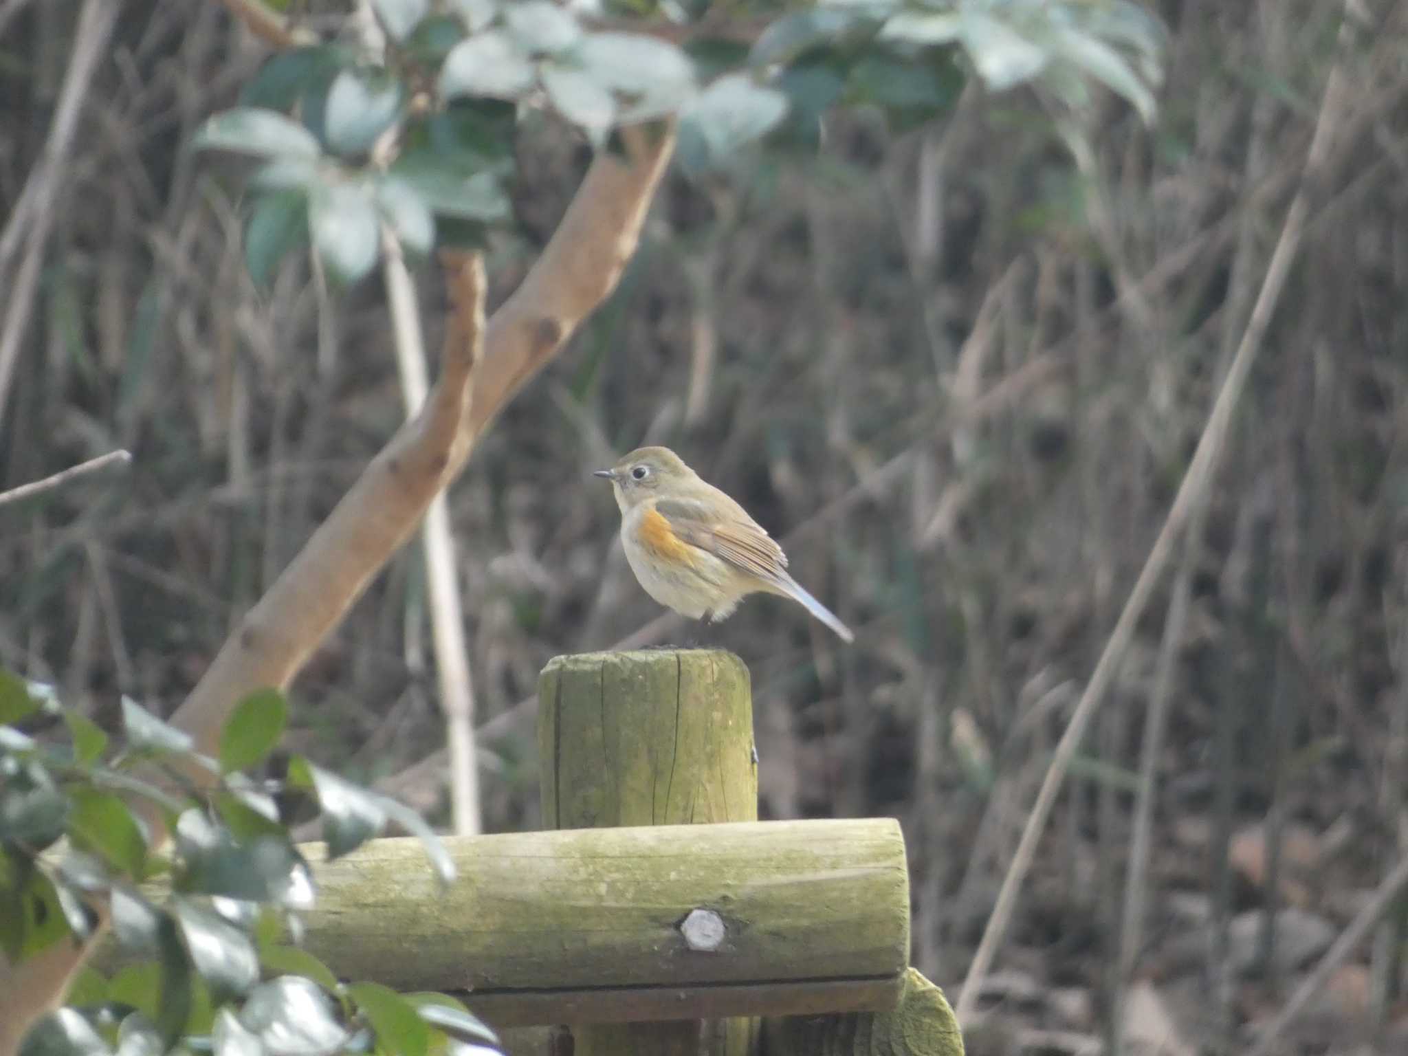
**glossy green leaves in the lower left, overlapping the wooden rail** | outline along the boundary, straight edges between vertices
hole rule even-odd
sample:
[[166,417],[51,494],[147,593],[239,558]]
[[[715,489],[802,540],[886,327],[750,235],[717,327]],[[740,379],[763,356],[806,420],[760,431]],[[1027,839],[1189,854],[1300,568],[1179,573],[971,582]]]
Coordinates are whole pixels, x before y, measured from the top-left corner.
[[[31,1031],[25,1056],[497,1052],[493,1032],[458,1001],[344,984],[289,945],[314,900],[279,805],[300,791],[317,803],[332,855],[394,818],[422,838],[442,881],[455,867],[414,811],[301,756],[286,783],[246,776],[277,743],[286,714],[275,690],[251,694],[221,731],[215,760],[124,698],[114,750],[49,687],[0,670],[0,949],[17,963],[87,938],[103,910],[125,955],[111,977],[84,969],[68,1007]],[[173,835],[169,852],[153,850],[153,825]],[[169,887],[162,898],[142,886],[158,876]]]

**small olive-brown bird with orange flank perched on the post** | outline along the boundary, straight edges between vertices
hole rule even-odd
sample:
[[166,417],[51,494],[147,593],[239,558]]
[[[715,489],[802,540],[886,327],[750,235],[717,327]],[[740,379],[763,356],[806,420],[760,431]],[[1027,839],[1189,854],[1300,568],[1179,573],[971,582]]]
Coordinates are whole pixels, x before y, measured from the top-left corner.
[[801,603],[842,641],[855,639],[787,574],[787,555],[758,521],[669,448],[639,448],[596,476],[615,491],[631,570],[666,608],[718,622],[762,590]]

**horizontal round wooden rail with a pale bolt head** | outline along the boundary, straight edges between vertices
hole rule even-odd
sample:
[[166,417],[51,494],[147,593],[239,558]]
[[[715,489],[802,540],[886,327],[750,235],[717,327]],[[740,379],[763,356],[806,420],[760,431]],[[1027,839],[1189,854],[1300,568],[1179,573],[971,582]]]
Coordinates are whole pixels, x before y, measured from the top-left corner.
[[886,1011],[910,888],[890,818],[414,839],[314,862],[304,946],[345,979],[463,993],[496,1025]]

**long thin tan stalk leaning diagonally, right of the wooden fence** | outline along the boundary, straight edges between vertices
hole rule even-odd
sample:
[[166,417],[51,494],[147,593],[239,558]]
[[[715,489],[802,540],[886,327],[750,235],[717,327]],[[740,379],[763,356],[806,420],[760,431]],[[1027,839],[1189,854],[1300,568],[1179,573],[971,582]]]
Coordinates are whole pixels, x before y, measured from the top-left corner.
[[1173,558],[1176,542],[1181,536],[1190,514],[1212,483],[1214,472],[1226,446],[1232,413],[1236,410],[1242,390],[1246,387],[1247,375],[1262,348],[1262,338],[1266,335],[1266,328],[1271,321],[1271,314],[1286,286],[1286,277],[1300,249],[1305,218],[1311,208],[1311,199],[1318,196],[1319,191],[1319,179],[1329,155],[1332,130],[1339,120],[1340,99],[1345,94],[1340,63],[1347,51],[1352,21],[1347,7],[1352,3],[1353,0],[1346,0],[1346,15],[1340,23],[1339,54],[1335,66],[1331,69],[1329,80],[1325,84],[1325,96],[1321,103],[1319,117],[1315,121],[1315,132],[1311,137],[1300,186],[1297,187],[1291,207],[1287,210],[1281,235],[1276,242],[1276,249],[1266,269],[1266,277],[1262,282],[1256,304],[1252,308],[1252,317],[1247,321],[1246,331],[1242,334],[1236,356],[1228,367],[1226,380],[1224,380],[1222,389],[1212,404],[1212,411],[1202,429],[1202,436],[1198,439],[1188,472],[1178,484],[1173,507],[1169,510],[1163,528],[1159,529],[1159,536],[1155,539],[1149,558],[1139,572],[1139,579],[1129,593],[1129,600],[1125,603],[1119,620],[1115,622],[1115,629],[1111,632],[1110,641],[1105,642],[1100,660],[1095,663],[1095,670],[1090,676],[1090,683],[1086,686],[1086,691],[1081,694],[1080,703],[1070,717],[1070,725],[1066,727],[1066,732],[1062,734],[1056,745],[1050,767],[1046,770],[1046,777],[1042,780],[1042,787],[1036,794],[1036,803],[1032,804],[1032,812],[1026,819],[1022,838],[1012,856],[1012,865],[1008,867],[1007,876],[1002,877],[1002,887],[998,891],[997,904],[993,907],[993,915],[988,918],[987,928],[983,931],[983,939],[973,955],[973,964],[963,980],[963,990],[959,994],[955,1010],[959,1022],[964,1022],[973,1014],[979,988],[987,976],[993,957],[997,955],[997,948],[1002,936],[1007,934],[1007,925],[1017,907],[1018,891],[1036,855],[1036,842],[1046,828],[1046,818],[1056,803],[1056,796],[1060,791],[1062,781],[1076,755],[1076,749],[1084,738],[1086,727],[1090,725],[1090,719],[1104,701],[1110,683],[1114,681],[1115,670],[1124,660],[1129,642],[1133,639],[1135,625],[1143,615],[1149,598],[1153,596],[1155,586],[1163,577]]

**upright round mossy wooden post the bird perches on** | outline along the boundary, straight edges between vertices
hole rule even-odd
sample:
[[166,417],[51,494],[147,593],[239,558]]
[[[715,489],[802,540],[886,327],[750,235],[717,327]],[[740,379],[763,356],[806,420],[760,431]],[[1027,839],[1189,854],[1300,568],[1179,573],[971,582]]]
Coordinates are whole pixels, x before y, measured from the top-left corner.
[[[538,759],[545,828],[756,821],[748,667],[703,649],[559,656],[538,683]],[[749,1056],[758,1021],[579,1026],[573,1038],[574,1056]]]

